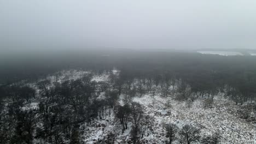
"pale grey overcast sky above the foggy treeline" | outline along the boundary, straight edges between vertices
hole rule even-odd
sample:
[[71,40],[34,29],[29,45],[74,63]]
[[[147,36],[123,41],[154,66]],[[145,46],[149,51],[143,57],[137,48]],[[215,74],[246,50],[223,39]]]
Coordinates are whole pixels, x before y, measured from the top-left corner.
[[29,46],[256,49],[255,0],[0,0],[0,21],[2,52]]

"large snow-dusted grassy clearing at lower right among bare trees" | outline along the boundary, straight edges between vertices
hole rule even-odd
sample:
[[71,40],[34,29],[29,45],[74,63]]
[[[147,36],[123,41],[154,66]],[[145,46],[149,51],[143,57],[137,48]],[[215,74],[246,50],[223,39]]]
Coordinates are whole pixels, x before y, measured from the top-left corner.
[[[146,113],[154,113],[157,125],[160,125],[163,119],[166,123],[177,124],[179,128],[182,128],[184,124],[192,124],[201,128],[202,137],[219,131],[222,135],[221,143],[254,143],[255,126],[232,113],[239,109],[234,102],[218,97],[214,99],[212,109],[204,109],[203,99],[198,99],[188,109],[185,102],[168,99],[171,99],[171,109],[169,110],[171,114],[167,116],[156,113],[165,108],[166,98],[155,96],[153,99],[149,95],[144,95],[142,98],[135,97],[133,101],[146,106]],[[161,128],[155,127],[154,130],[161,131]]]

